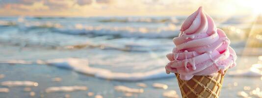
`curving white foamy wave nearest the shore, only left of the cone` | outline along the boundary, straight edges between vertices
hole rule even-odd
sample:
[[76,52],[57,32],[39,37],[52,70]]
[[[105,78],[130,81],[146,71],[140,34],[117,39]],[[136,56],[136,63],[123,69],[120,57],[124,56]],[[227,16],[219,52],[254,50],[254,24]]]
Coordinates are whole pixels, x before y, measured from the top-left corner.
[[[26,62],[26,63],[25,63]],[[30,61],[17,60],[17,64],[28,64]],[[12,61],[1,61],[1,64],[16,64],[16,60]],[[69,69],[76,71],[78,73],[93,75],[97,78],[110,79],[110,80],[121,80],[121,81],[141,81],[148,79],[159,79],[174,77],[174,74],[166,74],[164,68],[155,69],[147,72],[134,72],[134,73],[117,73],[112,72],[103,68],[95,68],[88,66],[87,59],[80,58],[61,58],[61,59],[51,59],[51,60],[38,60],[31,62],[32,64],[46,64],[50,66],[55,66],[58,68]]]

